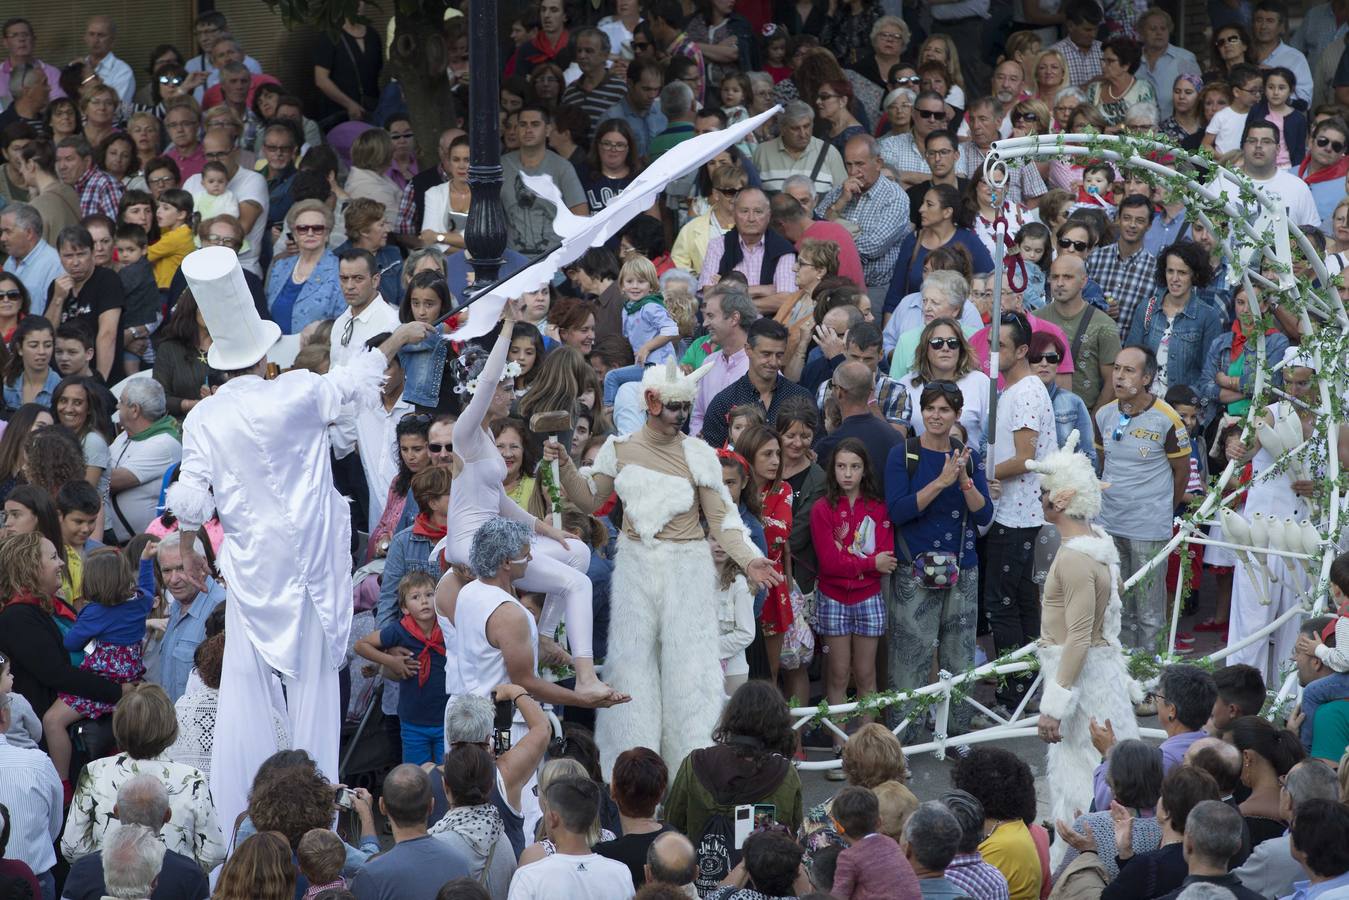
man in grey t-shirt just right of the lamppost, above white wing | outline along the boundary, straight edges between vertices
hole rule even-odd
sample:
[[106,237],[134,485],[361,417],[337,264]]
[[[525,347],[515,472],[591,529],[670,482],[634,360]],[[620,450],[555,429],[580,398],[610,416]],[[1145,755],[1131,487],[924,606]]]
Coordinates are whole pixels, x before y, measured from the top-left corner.
[[553,232],[553,204],[525,186],[525,175],[552,175],[567,208],[588,216],[581,179],[569,162],[548,148],[552,116],[542,107],[519,111],[519,150],[502,155],[502,204],[506,206],[506,233],[515,252],[537,256],[554,250],[561,240]]

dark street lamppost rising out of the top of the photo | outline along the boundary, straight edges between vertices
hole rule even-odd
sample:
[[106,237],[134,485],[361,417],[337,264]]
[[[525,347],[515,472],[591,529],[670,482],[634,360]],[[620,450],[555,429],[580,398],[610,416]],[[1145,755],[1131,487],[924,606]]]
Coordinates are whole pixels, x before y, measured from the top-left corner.
[[[506,250],[506,208],[502,205],[500,38],[496,0],[468,4],[468,223],[464,246],[473,266],[473,283],[486,287],[498,278]],[[472,293],[472,291],[469,291]]]

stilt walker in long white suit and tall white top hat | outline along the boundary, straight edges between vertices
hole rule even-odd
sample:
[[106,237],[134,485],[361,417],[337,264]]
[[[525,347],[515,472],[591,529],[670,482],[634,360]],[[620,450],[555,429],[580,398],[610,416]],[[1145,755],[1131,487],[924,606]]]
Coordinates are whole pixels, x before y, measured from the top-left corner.
[[[178,483],[167,506],[193,532],[212,511],[224,526],[225,661],[210,789],[225,820],[247,808],[258,766],[277,752],[266,725],[281,675],[295,749],[337,780],[337,667],[351,630],[351,513],[332,483],[328,426],[343,405],[378,402],[398,348],[428,328],[402,325],[380,347],[326,375],[264,381],[281,329],[254,308],[239,259],[224,247],[189,254],[183,275],[210,333],[206,362],[227,382],[183,422]],[[183,542],[188,575],[205,560]]]

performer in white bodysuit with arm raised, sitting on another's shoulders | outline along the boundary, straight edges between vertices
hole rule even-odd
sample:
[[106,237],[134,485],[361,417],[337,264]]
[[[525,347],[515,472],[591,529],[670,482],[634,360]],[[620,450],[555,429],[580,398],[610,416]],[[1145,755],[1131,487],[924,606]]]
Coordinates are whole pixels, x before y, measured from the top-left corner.
[[[576,668],[576,692],[585,699],[599,700],[610,694],[610,688],[595,675],[591,580],[585,573],[590,568],[590,549],[583,541],[530,515],[506,495],[502,484],[506,463],[487,429],[492,418],[509,414],[514,398],[514,376],[506,375],[514,328],[513,310],[514,304],[507,304],[500,335],[473,379],[476,390],[472,391],[472,399],[455,422],[455,455],[463,468],[455,475],[455,486],[449,491],[445,559],[467,565],[473,534],[498,515],[527,525],[536,534],[548,538],[530,544],[533,559],[515,586],[546,595],[542,617],[545,631],[549,630],[549,623],[556,623],[557,607],[565,607],[567,642]],[[441,627],[445,627],[445,621]],[[451,692],[455,691],[455,685],[449,688]]]

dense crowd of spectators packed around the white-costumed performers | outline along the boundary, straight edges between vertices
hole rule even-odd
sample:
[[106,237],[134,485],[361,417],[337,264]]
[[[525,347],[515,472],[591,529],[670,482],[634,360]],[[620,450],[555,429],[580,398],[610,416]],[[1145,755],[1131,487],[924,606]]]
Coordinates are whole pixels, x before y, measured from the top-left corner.
[[[1001,190],[983,173],[1001,138],[1163,135],[1241,170],[1338,274],[1349,7],[1296,27],[1276,0],[1209,7],[1201,61],[1166,8],[1117,0],[541,0],[503,22],[506,273],[558,246],[560,210],[522,175],[590,216],[683,142],[781,111],[471,341],[442,324],[475,281],[459,8],[441,35],[455,124],[433,148],[363,22],[318,40],[305,103],[219,12],[190,55],[162,45],[139,70],[108,16],[65,66],[7,20],[0,897],[1349,896],[1349,555],[1331,615],[1291,615],[1217,669],[1161,669],[1133,704],[1160,749],[1133,716],[1091,718],[1093,796],[1048,819],[1008,749],[962,748],[952,787],[917,796],[902,748],[1037,708],[1040,735],[1068,739],[1071,679],[1040,706],[1032,675],[1001,677],[944,725],[789,715],[1036,641],[1067,648],[1060,673],[1072,646],[1174,660],[1193,631],[1236,645],[1309,602],[1304,568],[1233,552],[1217,525],[1117,579],[1232,461],[1240,521],[1333,519],[1325,460],[1296,448],[1322,387],[1306,329],[1337,325],[1248,294],[1228,235],[1155,178],[1089,157],[1013,167]],[[278,752],[232,822],[212,748],[225,613],[255,586],[217,567],[239,519],[197,529],[166,502],[185,418],[248,374],[210,362],[223,335],[182,271],[202,247],[237,255],[283,336],[274,368],[387,362],[378,402],[295,455],[331,460],[305,490],[336,487],[351,515],[344,742],[395,735],[390,758],[374,793],[333,784],[339,737],[293,746],[264,672],[275,708],[250,731]],[[286,399],[258,410],[283,440],[313,412]],[[1330,428],[1349,464],[1349,428]],[[685,436],[697,452],[661,459]],[[621,499],[638,452],[697,488],[691,515],[653,524],[670,513],[656,480]],[[1041,488],[1064,452],[1108,486],[1091,480],[1095,506]],[[228,487],[259,490],[255,471]],[[1101,536],[1116,580],[1060,533]],[[693,556],[653,549],[676,542]],[[710,560],[712,596],[688,609],[715,615],[669,609],[634,663],[649,623],[623,553],[676,596]],[[1193,625],[1170,644],[1175,613]],[[672,675],[704,657],[715,696]],[[1269,708],[1290,665],[1300,702]],[[606,715],[665,733],[614,746]],[[813,807],[808,758],[849,783]]]

